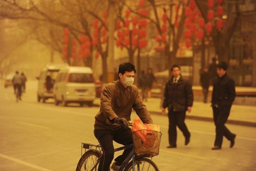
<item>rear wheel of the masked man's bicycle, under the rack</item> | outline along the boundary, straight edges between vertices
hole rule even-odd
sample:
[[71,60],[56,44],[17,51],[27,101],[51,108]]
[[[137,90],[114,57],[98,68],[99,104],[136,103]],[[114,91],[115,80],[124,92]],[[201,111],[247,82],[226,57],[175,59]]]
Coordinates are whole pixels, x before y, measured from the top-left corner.
[[[88,171],[88,170],[98,170],[97,160],[101,156],[100,151],[89,150],[85,152],[80,158],[76,171]],[[95,166],[97,164],[97,166]]]

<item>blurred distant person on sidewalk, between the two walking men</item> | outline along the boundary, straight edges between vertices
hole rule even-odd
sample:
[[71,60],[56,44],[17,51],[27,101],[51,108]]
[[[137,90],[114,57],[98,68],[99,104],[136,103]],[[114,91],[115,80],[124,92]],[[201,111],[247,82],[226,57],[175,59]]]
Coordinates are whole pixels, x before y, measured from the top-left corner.
[[208,72],[208,68],[204,67],[203,72],[200,74],[200,83],[203,88],[204,103],[207,103],[210,79],[211,79],[211,74]]

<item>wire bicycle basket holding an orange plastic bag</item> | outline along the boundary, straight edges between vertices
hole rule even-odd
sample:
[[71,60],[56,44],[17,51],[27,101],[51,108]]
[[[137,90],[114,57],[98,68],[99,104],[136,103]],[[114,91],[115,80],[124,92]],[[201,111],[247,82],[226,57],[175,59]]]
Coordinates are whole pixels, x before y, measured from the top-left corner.
[[134,149],[137,154],[153,157],[159,154],[162,133],[154,130],[132,132]]

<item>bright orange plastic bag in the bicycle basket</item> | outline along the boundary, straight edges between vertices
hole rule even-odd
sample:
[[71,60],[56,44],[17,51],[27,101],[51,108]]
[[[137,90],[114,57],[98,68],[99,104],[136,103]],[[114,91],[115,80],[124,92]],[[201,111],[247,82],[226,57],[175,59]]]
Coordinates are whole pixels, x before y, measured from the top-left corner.
[[132,132],[141,139],[142,145],[146,148],[154,146],[157,137],[154,131],[151,131],[151,128],[147,126],[147,123],[142,124],[140,119],[135,119],[133,121]]

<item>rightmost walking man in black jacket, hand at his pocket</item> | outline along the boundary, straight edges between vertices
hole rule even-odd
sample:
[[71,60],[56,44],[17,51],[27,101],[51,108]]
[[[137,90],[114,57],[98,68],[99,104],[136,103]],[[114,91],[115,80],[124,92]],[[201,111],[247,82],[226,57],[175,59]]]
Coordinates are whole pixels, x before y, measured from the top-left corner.
[[235,144],[236,134],[231,133],[225,126],[230,108],[236,97],[235,82],[227,75],[228,64],[221,62],[217,65],[217,77],[213,79],[212,110],[216,126],[216,137],[212,150],[220,150],[223,136],[230,141],[230,148]]

